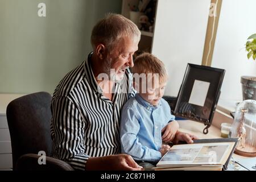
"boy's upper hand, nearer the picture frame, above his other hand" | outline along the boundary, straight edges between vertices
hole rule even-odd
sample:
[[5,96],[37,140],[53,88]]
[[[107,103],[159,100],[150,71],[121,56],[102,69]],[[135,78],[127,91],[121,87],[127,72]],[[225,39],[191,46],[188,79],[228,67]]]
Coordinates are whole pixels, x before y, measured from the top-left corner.
[[166,125],[162,130],[162,140],[163,142],[171,142],[175,138],[175,134],[179,129],[179,123],[177,121],[172,121]]

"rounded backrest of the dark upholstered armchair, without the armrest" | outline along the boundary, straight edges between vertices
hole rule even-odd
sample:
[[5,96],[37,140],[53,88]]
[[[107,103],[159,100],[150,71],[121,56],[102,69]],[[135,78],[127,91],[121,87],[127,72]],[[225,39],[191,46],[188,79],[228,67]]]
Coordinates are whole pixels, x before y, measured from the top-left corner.
[[50,155],[51,100],[49,93],[39,92],[17,98],[7,106],[14,169],[23,154],[44,151]]

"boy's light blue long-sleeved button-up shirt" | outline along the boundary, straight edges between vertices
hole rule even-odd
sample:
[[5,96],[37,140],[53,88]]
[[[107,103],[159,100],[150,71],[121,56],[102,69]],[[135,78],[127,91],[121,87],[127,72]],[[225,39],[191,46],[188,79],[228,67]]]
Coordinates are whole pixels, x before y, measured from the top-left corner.
[[168,103],[161,99],[158,106],[145,101],[139,94],[123,106],[120,125],[122,153],[135,160],[157,162],[162,158],[161,130],[173,121]]

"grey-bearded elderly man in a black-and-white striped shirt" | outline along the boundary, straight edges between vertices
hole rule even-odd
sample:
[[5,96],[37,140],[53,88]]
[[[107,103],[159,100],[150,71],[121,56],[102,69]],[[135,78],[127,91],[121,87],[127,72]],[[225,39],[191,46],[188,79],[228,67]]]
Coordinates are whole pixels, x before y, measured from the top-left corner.
[[[122,106],[133,97],[133,55],[141,32],[122,15],[109,14],[94,26],[93,52],[69,72],[52,98],[52,156],[81,170],[141,170],[119,154]],[[107,78],[108,77],[108,78]],[[177,133],[176,140],[192,142]]]

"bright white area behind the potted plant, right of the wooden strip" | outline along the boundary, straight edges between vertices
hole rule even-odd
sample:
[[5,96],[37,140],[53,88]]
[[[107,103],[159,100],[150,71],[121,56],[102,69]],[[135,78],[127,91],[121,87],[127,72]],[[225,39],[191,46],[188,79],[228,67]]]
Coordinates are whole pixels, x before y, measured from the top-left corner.
[[256,61],[247,60],[246,39],[256,33],[255,0],[223,0],[212,67],[226,69],[221,99],[242,100],[240,77],[256,76]]

